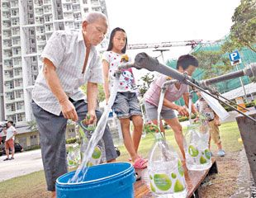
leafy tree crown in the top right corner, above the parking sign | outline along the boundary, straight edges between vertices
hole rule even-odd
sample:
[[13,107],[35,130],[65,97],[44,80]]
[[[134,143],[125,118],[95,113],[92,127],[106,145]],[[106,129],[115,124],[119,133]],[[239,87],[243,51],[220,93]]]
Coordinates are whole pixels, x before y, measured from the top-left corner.
[[256,52],[256,0],[241,0],[232,16],[234,25],[230,28],[230,40],[222,46],[224,52],[246,47]]

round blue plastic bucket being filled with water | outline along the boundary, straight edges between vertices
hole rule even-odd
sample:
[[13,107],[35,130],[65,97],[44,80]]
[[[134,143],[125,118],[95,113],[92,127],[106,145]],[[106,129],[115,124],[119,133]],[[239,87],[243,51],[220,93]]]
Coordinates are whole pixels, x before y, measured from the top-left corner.
[[135,197],[135,169],[130,163],[106,163],[89,167],[82,182],[68,183],[75,171],[56,181],[58,198],[131,198]]

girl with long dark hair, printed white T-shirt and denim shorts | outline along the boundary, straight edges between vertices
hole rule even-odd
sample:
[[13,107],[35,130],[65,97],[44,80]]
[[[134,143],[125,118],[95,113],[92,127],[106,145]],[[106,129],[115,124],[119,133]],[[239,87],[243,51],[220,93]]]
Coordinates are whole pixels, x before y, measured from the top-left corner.
[[[116,27],[111,31],[107,51],[103,54],[104,91],[106,101],[110,97],[110,89],[114,82],[114,71],[121,64],[121,56],[126,53],[127,37],[126,31]],[[110,82],[109,82],[110,81]],[[140,158],[138,148],[142,134],[143,120],[140,111],[140,102],[136,97],[138,88],[135,86],[135,78],[131,68],[124,69],[120,77],[120,85],[114,102],[114,111],[121,123],[124,144],[135,168],[147,167],[145,158]],[[134,125],[132,137],[130,136],[130,120]]]

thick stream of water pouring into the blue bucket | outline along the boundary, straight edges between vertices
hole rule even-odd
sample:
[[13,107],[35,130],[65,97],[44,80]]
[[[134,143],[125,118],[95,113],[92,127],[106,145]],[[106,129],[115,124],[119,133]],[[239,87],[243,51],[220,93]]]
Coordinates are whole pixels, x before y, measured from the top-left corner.
[[86,155],[83,158],[83,161],[81,165],[78,167],[77,171],[75,172],[74,176],[69,179],[68,183],[78,183],[82,182],[86,173],[88,172],[88,168],[86,168],[86,165],[88,164],[89,158],[91,158],[92,153],[94,151],[94,148],[97,146],[97,142],[102,139],[102,136],[104,134],[106,125],[107,125],[107,117],[109,115],[109,112],[111,110],[111,106],[113,105],[115,98],[116,98],[116,92],[119,86],[119,78],[120,74],[116,74],[114,85],[111,88],[111,95],[108,101],[107,106],[105,107],[105,110],[102,114],[101,119],[97,123],[97,128],[95,129],[94,133],[92,134],[92,138],[89,140],[88,147],[86,148]]

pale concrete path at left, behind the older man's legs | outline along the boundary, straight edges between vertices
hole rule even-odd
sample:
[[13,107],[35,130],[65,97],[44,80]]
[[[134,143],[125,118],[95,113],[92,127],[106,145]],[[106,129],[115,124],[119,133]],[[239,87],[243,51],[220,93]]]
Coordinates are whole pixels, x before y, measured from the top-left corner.
[[43,170],[40,149],[15,153],[12,160],[3,161],[5,158],[7,155],[0,157],[0,182]]

